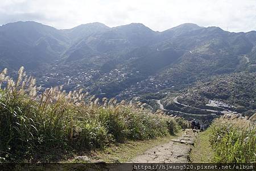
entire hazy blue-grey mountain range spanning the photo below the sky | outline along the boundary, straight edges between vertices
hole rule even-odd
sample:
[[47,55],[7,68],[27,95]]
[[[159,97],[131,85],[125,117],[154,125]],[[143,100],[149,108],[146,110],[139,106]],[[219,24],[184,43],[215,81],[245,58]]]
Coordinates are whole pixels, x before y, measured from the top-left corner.
[[0,69],[25,66],[43,87],[84,87],[98,97],[133,98],[197,81],[255,72],[256,32],[185,23],[163,32],[141,23],[88,23],[57,30],[36,22],[0,27]]

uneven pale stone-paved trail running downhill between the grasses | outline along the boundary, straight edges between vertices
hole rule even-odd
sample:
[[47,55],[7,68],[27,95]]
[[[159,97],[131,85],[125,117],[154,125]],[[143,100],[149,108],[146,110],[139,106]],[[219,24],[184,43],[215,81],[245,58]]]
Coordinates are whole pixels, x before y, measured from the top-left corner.
[[143,155],[135,157],[130,162],[134,163],[166,163],[166,162],[188,162],[189,152],[194,144],[197,133],[185,130],[183,135],[172,139],[169,143],[158,145],[148,149]]

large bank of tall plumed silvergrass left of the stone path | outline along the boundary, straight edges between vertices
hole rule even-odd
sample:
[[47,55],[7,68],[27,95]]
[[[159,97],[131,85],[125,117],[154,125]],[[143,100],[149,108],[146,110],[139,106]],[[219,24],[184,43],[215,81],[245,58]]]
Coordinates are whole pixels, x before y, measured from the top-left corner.
[[90,150],[128,139],[145,140],[174,134],[176,120],[152,114],[125,101],[85,102],[82,90],[62,87],[39,93],[35,78],[20,68],[18,80],[0,74],[0,161],[34,161],[53,151]]

